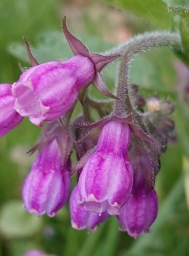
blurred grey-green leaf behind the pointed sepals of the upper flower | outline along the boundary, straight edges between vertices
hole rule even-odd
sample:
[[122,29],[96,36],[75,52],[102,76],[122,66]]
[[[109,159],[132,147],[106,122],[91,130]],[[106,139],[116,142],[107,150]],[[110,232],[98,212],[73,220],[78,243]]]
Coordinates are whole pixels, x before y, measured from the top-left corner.
[[[36,41],[37,46],[32,47],[32,53],[39,62],[65,59],[73,56],[61,31],[44,31],[37,37]],[[87,43],[87,47],[91,52],[103,52],[113,46],[107,44],[98,36],[82,36],[82,42],[84,44]],[[29,62],[24,43],[13,42],[9,45],[8,51],[18,59]]]

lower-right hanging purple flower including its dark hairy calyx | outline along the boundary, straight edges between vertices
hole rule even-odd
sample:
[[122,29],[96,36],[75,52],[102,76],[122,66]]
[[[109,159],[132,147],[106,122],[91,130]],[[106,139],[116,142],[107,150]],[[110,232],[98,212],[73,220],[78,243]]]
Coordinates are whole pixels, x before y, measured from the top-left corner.
[[129,151],[134,173],[133,188],[117,219],[121,230],[132,237],[149,232],[155,221],[158,210],[157,195],[154,189],[154,178],[160,168],[159,156],[154,154],[151,145],[132,137]]

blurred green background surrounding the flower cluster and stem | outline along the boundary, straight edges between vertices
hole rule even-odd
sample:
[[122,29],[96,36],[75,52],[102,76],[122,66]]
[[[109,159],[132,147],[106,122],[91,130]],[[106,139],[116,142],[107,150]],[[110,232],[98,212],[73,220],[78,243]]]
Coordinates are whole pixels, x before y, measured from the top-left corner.
[[[105,51],[136,33],[180,30],[185,53],[176,54],[189,63],[187,8],[188,0],[1,0],[0,83],[13,83],[19,78],[19,63],[30,67],[23,35],[40,62],[72,56],[61,31],[64,15],[70,31],[95,52]],[[67,205],[55,218],[37,218],[23,210],[21,185],[35,157],[26,152],[41,130],[24,120],[0,139],[0,255],[20,256],[34,248],[58,256],[189,255],[189,105],[177,84],[173,67],[176,60],[173,51],[164,48],[140,54],[132,62],[130,80],[140,86],[140,92],[173,100],[176,108],[172,118],[177,142],[169,144],[161,157],[156,179],[159,214],[152,232],[130,238],[118,230],[115,217],[96,232],[74,230]],[[109,66],[104,71],[109,88],[113,88],[115,68]],[[99,97],[95,89],[91,93]]]

